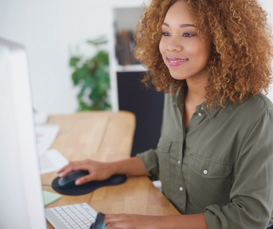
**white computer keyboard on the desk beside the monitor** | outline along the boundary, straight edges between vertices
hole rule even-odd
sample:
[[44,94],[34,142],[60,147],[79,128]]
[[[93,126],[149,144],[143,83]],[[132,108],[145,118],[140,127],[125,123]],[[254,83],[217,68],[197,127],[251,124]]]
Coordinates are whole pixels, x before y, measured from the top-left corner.
[[55,229],[90,228],[97,214],[87,203],[46,208],[46,219]]

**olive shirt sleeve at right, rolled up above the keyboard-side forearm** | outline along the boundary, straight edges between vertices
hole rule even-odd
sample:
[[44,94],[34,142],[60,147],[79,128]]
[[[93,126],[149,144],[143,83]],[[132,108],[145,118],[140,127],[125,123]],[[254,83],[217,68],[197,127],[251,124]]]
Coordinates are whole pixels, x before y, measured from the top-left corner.
[[209,229],[265,229],[273,208],[273,111],[257,117],[238,150],[228,205],[205,208]]

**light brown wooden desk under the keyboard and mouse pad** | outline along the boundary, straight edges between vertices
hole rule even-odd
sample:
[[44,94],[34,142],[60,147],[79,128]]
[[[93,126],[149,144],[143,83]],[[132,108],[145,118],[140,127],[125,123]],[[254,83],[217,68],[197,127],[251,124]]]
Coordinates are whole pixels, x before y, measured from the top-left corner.
[[[135,130],[135,116],[131,112],[56,115],[51,116],[48,122],[60,125],[60,132],[51,148],[58,149],[67,160],[114,161],[130,157]],[[51,184],[57,176],[55,172],[43,174],[42,183]],[[43,186],[43,189],[55,192],[48,186]],[[60,200],[46,208],[84,202],[104,213],[179,214],[146,176],[129,177],[121,185],[101,187],[85,195],[62,195]],[[53,229],[48,222],[47,226]]]

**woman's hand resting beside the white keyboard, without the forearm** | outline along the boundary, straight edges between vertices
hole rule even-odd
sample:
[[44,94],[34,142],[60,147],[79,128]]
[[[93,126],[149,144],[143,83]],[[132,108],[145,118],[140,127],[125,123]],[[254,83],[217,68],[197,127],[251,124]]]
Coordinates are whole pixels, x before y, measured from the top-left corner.
[[161,216],[136,214],[105,214],[105,229],[159,229]]

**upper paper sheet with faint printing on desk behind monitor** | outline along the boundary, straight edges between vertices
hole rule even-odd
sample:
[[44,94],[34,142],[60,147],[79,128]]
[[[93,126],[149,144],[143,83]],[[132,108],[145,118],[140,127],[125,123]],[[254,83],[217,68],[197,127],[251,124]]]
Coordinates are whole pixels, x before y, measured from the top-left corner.
[[60,126],[55,124],[36,125],[36,138],[39,157],[41,157],[52,145],[57,137]]

